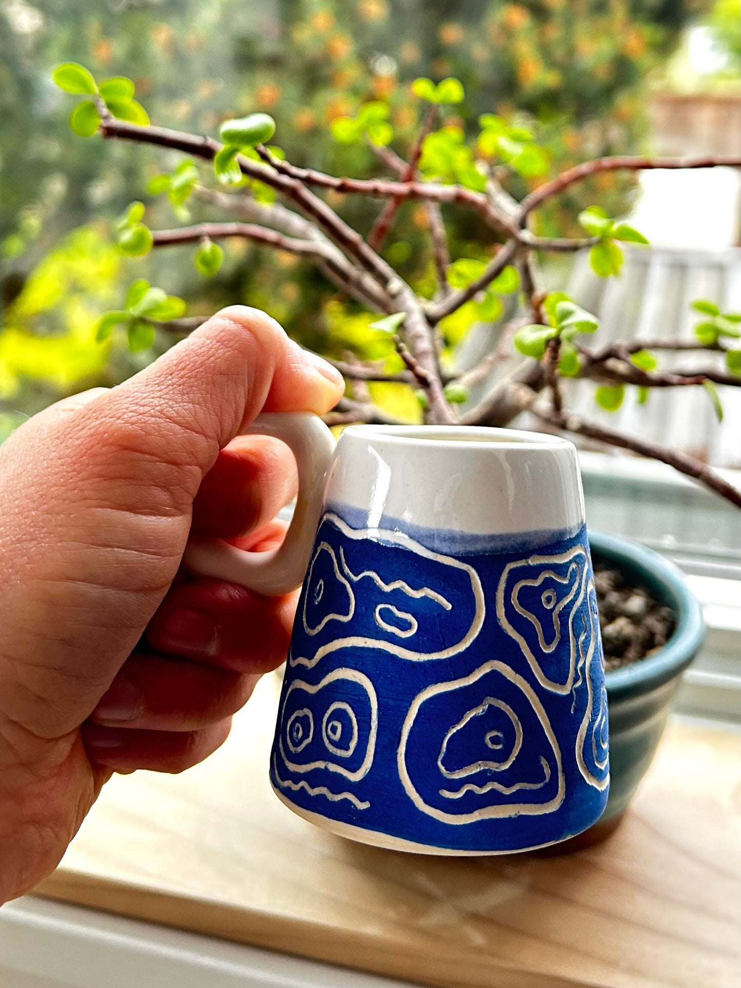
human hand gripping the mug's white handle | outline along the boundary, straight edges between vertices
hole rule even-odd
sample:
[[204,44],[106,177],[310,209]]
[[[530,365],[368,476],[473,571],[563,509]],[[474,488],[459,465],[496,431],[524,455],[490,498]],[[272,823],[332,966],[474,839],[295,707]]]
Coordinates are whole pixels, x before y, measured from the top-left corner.
[[55,867],[113,772],[202,761],[285,658],[295,595],[192,578],[180,560],[192,522],[280,542],[290,453],[234,437],[263,409],[322,414],[342,388],[234,306],[0,447],[0,903]]

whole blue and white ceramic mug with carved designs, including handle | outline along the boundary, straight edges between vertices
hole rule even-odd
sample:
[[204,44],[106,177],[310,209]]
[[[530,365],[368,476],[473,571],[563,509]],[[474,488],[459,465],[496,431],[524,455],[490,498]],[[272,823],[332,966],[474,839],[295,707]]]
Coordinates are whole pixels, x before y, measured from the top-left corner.
[[[501,854],[602,814],[607,694],[576,450],[459,426],[308,414],[250,432],[296,456],[284,545],[194,539],[200,573],[303,579],[271,758],[300,816],[379,847]],[[314,537],[314,534],[315,537]]]

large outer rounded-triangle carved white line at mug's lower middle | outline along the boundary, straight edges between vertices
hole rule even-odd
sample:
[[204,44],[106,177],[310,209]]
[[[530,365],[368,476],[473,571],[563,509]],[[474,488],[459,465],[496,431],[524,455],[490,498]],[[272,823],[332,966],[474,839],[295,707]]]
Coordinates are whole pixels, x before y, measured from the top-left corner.
[[[437,809],[435,806],[430,806],[425,802],[423,797],[417,791],[412,782],[409,772],[406,767],[406,748],[407,742],[409,740],[409,734],[412,729],[412,725],[419,713],[420,707],[431,697],[434,697],[441,693],[449,693],[455,690],[460,690],[463,687],[470,686],[471,683],[475,683],[482,676],[485,676],[488,672],[496,670],[501,673],[506,679],[517,686],[530,701],[533,710],[535,711],[535,716],[540,722],[545,737],[552,749],[553,756],[556,763],[556,771],[558,773],[558,791],[547,802],[544,803],[509,803],[506,805],[498,806],[482,806],[471,813],[449,813],[445,810]],[[541,761],[542,764],[542,761]],[[528,816],[541,816],[545,813],[552,813],[553,810],[558,809],[558,807],[563,802],[563,798],[566,792],[566,781],[563,775],[563,765],[561,761],[561,752],[558,747],[558,742],[556,740],[555,734],[553,733],[553,728],[548,720],[548,715],[543,709],[542,703],[537,699],[533,687],[528,683],[527,680],[523,679],[518,673],[510,669],[509,666],[505,665],[503,662],[499,662],[496,659],[492,659],[490,662],[484,663],[484,665],[479,666],[478,669],[474,669],[472,673],[468,676],[464,676],[461,679],[453,680],[449,683],[434,683],[432,686],[427,687],[412,701],[409,711],[404,720],[404,724],[401,729],[401,740],[399,742],[399,747],[396,752],[396,766],[399,772],[399,779],[401,780],[407,795],[412,800],[414,805],[426,813],[428,816],[434,817],[436,820],[440,820],[442,823],[452,823],[455,825],[461,825],[465,823],[474,823],[476,820],[486,820],[491,817],[507,817],[507,816],[518,816],[520,814]],[[548,779],[550,776],[548,776]],[[548,780],[546,779],[545,782]],[[538,787],[543,785],[545,782],[535,783]],[[467,783],[470,784],[470,783]],[[490,786],[494,787],[494,786]],[[521,784],[520,788],[523,787]],[[483,787],[482,787],[483,788]],[[459,793],[462,795],[463,793]]]

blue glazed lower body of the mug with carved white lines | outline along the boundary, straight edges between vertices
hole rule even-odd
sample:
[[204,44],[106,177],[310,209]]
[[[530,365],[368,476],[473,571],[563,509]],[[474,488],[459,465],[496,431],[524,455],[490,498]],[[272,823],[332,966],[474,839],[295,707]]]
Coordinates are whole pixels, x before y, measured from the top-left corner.
[[472,541],[364,522],[333,505],[316,537],[276,789],[433,850],[525,850],[585,830],[609,789],[586,530]]

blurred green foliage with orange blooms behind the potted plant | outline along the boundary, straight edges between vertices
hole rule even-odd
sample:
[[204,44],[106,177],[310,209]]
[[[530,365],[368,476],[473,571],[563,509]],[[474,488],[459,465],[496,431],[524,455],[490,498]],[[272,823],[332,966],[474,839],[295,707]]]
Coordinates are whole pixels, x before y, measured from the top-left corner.
[[[79,61],[98,80],[125,73],[159,124],[216,134],[224,120],[270,113],[291,161],[354,176],[378,174],[379,165],[367,142],[336,139],[338,122],[357,120],[361,105],[373,100],[387,108],[370,122],[377,142],[390,128],[404,153],[423,109],[399,80],[430,77],[437,84],[455,76],[466,101],[457,103],[452,93],[444,101],[436,90],[441,123],[470,136],[479,118],[488,117],[481,124],[490,151],[502,156],[509,146],[512,162],[525,155],[507,179],[521,196],[541,181],[543,165],[561,168],[637,146],[641,85],[688,19],[707,6],[705,0],[4,0],[0,409],[31,413],[60,393],[112,383],[168,346],[171,338],[159,333],[138,354],[121,343],[121,334],[95,341],[100,313],[120,305],[124,286],[143,274],[188,297],[194,314],[247,301],[319,350],[348,347],[366,357],[392,350],[388,334],[369,329],[370,314],[349,309],[310,264],[293,256],[242,242],[223,256],[202,245],[198,256],[178,247],[141,260],[142,234],[130,211],[118,230],[120,243],[125,248],[128,238],[131,248],[122,256],[113,246],[113,224],[131,199],[146,203],[152,227],[173,225],[173,211],[180,221],[205,218],[203,206],[186,205],[188,186],[199,174],[203,181],[204,166],[156,148],[80,140],[69,130],[69,100],[50,79],[55,65]],[[132,95],[125,86],[114,90],[113,101]],[[363,126],[369,131],[369,122]],[[538,162],[532,147],[544,147],[539,153],[546,157]],[[434,150],[426,149],[425,167],[440,164]],[[538,214],[539,232],[574,232],[579,211],[595,200],[619,215],[630,187],[630,179],[613,174],[574,187]],[[162,192],[168,195],[150,204],[147,197]],[[353,197],[332,205],[364,231],[378,208]],[[453,256],[485,260],[488,233],[480,221],[445,213],[454,222]],[[423,206],[402,207],[385,251],[423,293],[432,287],[426,226]],[[493,292],[492,312],[498,304]],[[449,341],[464,334],[475,305],[447,320]],[[147,331],[147,342],[150,336]]]

